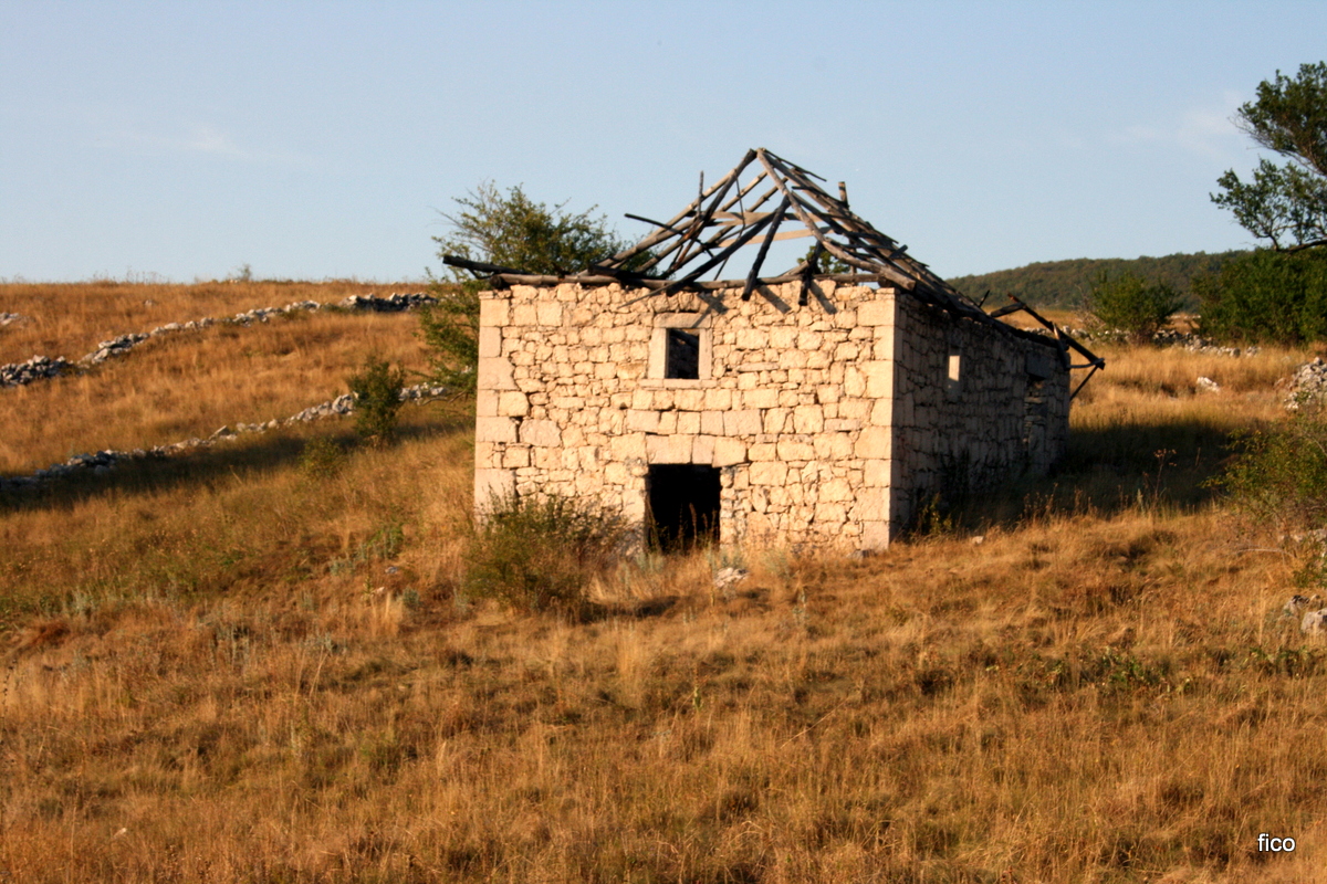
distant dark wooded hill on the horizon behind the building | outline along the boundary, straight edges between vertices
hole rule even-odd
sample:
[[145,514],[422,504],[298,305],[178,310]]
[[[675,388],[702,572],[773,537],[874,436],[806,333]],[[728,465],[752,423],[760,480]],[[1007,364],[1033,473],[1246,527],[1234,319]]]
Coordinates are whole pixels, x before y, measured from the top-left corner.
[[1185,296],[1189,306],[1197,306],[1197,301],[1190,294],[1193,277],[1216,273],[1226,261],[1241,254],[1245,252],[1217,252],[1214,254],[1197,252],[1194,254],[1168,254],[1160,258],[1039,261],[1014,270],[953,277],[949,284],[977,301],[981,301],[989,289],[991,294],[987,309],[1003,304],[1006,294],[1013,294],[1032,306],[1072,309],[1083,305],[1083,298],[1091,292],[1092,284],[1101,270],[1109,273],[1112,278],[1128,270],[1149,282],[1169,282],[1180,294]]

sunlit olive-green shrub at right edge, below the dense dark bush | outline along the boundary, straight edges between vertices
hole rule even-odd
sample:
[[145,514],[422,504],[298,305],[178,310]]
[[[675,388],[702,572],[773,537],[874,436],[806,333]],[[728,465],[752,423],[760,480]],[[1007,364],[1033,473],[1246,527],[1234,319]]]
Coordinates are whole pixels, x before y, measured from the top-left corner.
[[1327,525],[1327,420],[1303,414],[1234,441],[1216,480],[1235,505],[1282,529]]

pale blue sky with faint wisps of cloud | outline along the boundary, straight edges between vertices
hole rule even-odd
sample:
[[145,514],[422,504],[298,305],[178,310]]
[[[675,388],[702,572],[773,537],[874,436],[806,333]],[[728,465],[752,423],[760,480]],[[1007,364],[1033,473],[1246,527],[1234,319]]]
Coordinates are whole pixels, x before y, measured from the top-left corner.
[[1242,248],[1230,118],[1324,36],[1320,1],[0,0],[0,278],[417,280],[482,180],[634,239],[756,146],[942,276]]

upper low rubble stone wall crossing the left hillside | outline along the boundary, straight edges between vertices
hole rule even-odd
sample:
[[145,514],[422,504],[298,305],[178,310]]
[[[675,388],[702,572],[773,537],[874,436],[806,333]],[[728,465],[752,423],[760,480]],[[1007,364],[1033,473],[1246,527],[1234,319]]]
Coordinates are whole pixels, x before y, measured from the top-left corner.
[[[247,327],[255,322],[268,322],[273,317],[299,311],[356,310],[364,313],[401,313],[402,310],[410,310],[425,304],[437,302],[437,298],[430,294],[425,294],[423,292],[410,294],[393,293],[386,297],[378,297],[374,294],[352,294],[336,304],[295,301],[292,304],[287,304],[284,307],[253,307],[252,310],[245,310],[244,313],[236,313],[234,317],[203,317],[202,319],[191,319],[188,322],[167,322],[163,326],[157,326],[151,331],[122,334],[118,338],[102,341],[97,345],[96,350],[77,362],[69,362],[64,357],[56,357],[52,359],[50,357],[38,355],[28,359],[28,362],[13,362],[0,366],[0,387],[17,387],[32,383],[33,380],[54,378],[70,370],[92,368],[93,366],[100,366],[113,357],[125,355],[145,341],[159,338],[166,334],[198,331],[199,329],[207,329],[214,325],[238,325]],[[0,317],[13,317],[12,319],[8,319],[5,325],[23,318],[17,313],[3,313]]]

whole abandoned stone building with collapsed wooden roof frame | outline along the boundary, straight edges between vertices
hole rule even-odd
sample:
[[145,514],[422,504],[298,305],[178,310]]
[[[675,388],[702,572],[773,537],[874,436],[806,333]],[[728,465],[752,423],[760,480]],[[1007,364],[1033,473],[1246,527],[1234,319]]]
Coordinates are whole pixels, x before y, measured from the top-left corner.
[[[750,151],[577,274],[447,258],[491,280],[480,513],[496,497],[563,494],[665,545],[869,550],[936,494],[1051,468],[1071,368],[1104,363],[1020,302],[983,311],[853,215],[843,184],[833,197],[813,179]],[[762,276],[770,244],[798,236],[812,239],[807,257]],[[758,249],[744,278],[703,278],[743,247]],[[1048,334],[1001,321],[1015,310]]]

